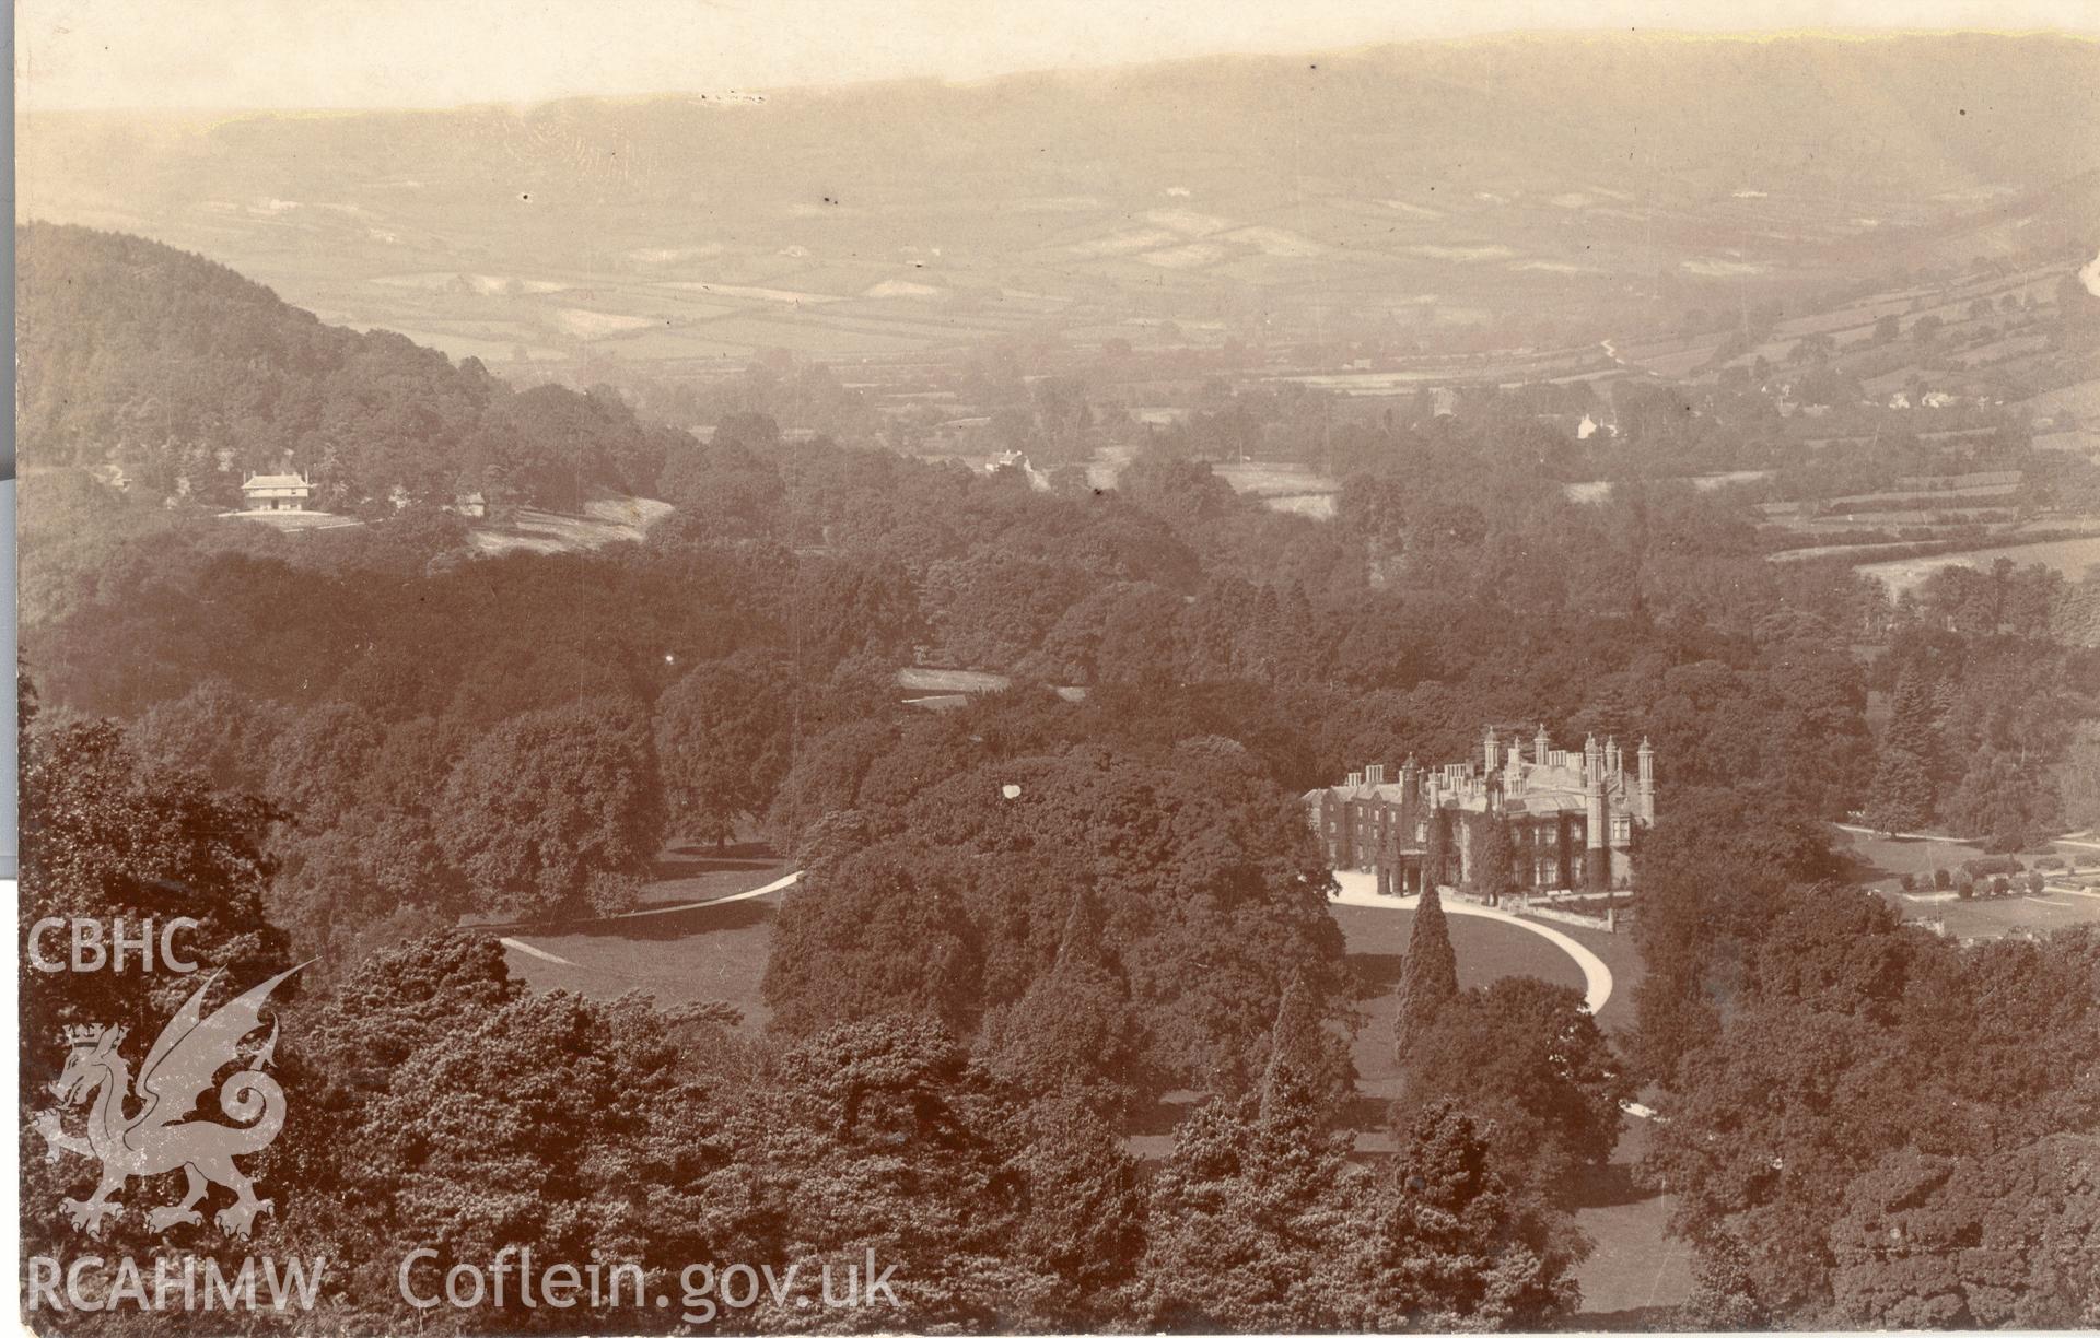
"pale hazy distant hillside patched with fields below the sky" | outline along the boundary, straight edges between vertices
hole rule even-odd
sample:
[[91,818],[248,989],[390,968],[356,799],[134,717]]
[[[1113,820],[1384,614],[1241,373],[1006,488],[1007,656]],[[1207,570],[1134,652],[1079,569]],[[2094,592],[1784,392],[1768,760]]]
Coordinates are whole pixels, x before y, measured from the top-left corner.
[[40,115],[21,208],[504,361],[1539,310],[1596,338],[1861,268],[2087,243],[2096,88],[2100,46],[2058,38],[1615,36],[758,103]]

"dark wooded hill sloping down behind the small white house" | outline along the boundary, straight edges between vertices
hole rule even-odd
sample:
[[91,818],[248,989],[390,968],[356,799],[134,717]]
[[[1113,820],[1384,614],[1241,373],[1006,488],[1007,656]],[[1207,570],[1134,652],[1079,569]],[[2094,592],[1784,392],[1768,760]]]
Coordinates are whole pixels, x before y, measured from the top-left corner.
[[575,510],[653,487],[664,434],[615,396],[512,392],[399,333],[357,333],[223,264],[80,226],[17,231],[19,445],[143,497],[239,503],[246,472],[298,468],[315,505],[504,501]]

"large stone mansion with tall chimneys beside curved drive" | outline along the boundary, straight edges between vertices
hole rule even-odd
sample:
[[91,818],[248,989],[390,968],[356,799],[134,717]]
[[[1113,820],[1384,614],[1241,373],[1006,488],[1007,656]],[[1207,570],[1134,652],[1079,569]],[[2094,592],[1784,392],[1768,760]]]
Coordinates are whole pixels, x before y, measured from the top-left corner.
[[1304,795],[1306,816],[1334,868],[1378,875],[1378,891],[1422,889],[1430,824],[1445,826],[1449,864],[1438,885],[1472,877],[1478,828],[1502,820],[1516,851],[1516,885],[1531,891],[1632,885],[1634,828],[1655,822],[1655,749],[1640,740],[1634,774],[1617,738],[1592,734],[1581,753],[1554,749],[1539,726],[1508,747],[1487,730],[1480,757],[1420,768],[1409,757],[1388,778],[1384,765],[1350,772]]

